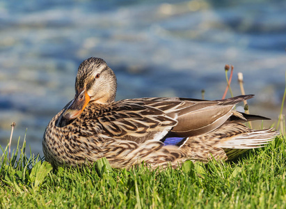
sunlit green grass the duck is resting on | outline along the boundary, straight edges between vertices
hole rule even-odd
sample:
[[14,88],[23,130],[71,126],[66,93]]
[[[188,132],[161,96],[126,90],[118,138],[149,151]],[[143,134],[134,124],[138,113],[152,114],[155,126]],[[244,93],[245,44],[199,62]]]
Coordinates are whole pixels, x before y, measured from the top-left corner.
[[25,144],[11,160],[0,158],[1,208],[286,208],[286,143],[251,150],[235,162],[193,164],[150,171],[91,167],[58,168]]

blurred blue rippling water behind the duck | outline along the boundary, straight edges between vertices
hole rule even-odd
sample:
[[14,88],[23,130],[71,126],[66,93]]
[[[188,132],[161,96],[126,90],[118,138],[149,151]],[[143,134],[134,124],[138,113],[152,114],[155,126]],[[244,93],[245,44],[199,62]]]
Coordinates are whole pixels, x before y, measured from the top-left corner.
[[[101,57],[118,77],[117,100],[155,96],[220,99],[254,93],[250,111],[277,121],[285,88],[286,1],[0,2],[0,145],[26,132],[42,156],[49,120],[74,97],[81,61]],[[228,94],[230,97],[230,94]],[[261,123],[260,123],[261,125]]]

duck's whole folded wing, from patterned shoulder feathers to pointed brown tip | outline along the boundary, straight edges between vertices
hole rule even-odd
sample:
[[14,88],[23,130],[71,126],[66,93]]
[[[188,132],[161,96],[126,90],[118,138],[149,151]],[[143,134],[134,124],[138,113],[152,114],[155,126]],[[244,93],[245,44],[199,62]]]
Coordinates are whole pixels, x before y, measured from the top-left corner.
[[109,111],[104,111],[97,120],[102,135],[115,139],[137,143],[160,141],[166,137],[182,140],[215,130],[234,114],[235,104],[252,97],[243,95],[214,101],[185,98],[120,100],[108,107]]

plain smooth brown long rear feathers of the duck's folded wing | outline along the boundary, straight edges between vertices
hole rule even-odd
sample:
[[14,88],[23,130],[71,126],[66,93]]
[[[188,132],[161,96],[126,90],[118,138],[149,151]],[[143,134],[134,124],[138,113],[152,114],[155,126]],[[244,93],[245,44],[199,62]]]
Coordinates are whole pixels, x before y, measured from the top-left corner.
[[[235,107],[235,104],[253,98],[253,96],[239,95],[235,98],[214,101],[177,98],[176,100],[180,101],[177,107],[168,108],[164,112],[168,116],[173,116],[174,114],[177,116],[178,123],[171,130],[175,136],[193,137],[215,130],[223,125],[232,115],[246,121],[242,114],[232,109]],[[159,102],[150,105],[162,109]]]

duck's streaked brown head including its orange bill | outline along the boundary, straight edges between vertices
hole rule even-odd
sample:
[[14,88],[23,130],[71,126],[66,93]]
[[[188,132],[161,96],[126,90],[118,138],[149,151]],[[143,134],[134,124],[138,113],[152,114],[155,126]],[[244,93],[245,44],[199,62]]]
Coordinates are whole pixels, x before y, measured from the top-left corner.
[[63,112],[63,117],[67,121],[77,118],[89,102],[114,102],[116,86],[116,75],[103,59],[86,59],[79,65],[74,100]]

